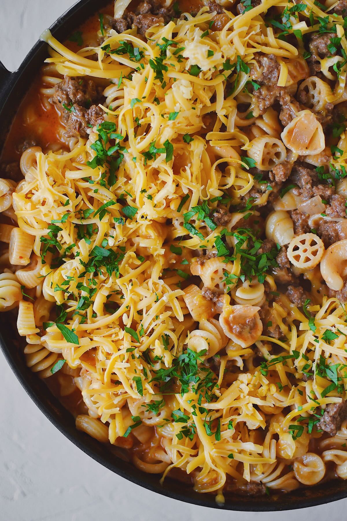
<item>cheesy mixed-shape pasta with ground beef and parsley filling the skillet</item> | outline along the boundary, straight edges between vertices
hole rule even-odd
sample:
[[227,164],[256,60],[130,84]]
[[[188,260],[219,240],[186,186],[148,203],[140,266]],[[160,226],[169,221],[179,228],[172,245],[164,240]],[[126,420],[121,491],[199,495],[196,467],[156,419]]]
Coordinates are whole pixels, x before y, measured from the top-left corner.
[[28,367],[78,429],[218,502],[347,478],[344,15],[117,0],[43,33],[3,148]]

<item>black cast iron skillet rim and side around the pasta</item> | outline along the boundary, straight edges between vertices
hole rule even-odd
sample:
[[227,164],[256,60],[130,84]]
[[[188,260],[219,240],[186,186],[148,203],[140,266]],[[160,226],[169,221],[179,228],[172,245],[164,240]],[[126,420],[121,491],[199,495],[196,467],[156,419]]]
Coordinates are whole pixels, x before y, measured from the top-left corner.
[[[106,3],[105,0],[103,2],[100,2],[100,0],[81,0],[53,24],[50,28],[52,34],[60,41],[65,40],[76,27],[100,10],[100,7]],[[9,72],[0,61],[0,151],[16,109],[46,57],[47,45],[39,41],[31,49],[18,71]],[[153,492],[185,503],[224,508],[225,510],[254,512],[291,510],[292,508],[329,503],[347,497],[347,482],[343,480],[328,481],[321,485],[298,489],[287,494],[271,492],[271,495],[262,497],[238,493],[229,494],[226,496],[224,506],[218,506],[213,495],[198,494],[185,483],[166,479],[164,485],[161,486],[159,483],[160,476],[141,472],[131,462],[127,461],[126,455],[110,450],[110,445],[101,444],[84,432],[76,430],[72,415],[48,390],[46,384],[25,365],[15,321],[8,318],[9,314],[7,313],[3,313],[0,317],[0,347],[30,398],[70,441],[101,465],[123,478]]]

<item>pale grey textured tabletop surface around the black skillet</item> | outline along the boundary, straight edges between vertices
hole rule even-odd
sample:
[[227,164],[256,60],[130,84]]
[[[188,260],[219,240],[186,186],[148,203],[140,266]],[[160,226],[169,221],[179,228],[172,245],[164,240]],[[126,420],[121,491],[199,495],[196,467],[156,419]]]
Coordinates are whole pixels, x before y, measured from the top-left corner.
[[[73,0],[0,0],[0,59],[15,70]],[[68,441],[31,402],[0,354],[0,521],[345,521],[347,499],[284,513],[184,504],[115,476]],[[346,483],[347,486],[347,483]]]

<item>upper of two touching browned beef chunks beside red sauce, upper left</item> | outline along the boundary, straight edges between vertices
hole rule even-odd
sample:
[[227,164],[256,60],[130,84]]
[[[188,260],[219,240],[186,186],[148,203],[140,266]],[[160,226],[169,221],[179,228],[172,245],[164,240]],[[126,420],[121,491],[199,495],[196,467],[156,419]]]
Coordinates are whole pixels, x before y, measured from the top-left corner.
[[100,92],[97,91],[94,81],[69,76],[65,76],[55,86],[54,91],[54,103],[61,106],[64,104],[67,107],[78,104],[88,108],[93,101],[100,97]]

